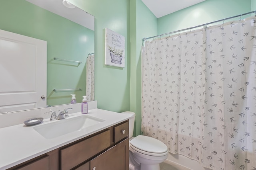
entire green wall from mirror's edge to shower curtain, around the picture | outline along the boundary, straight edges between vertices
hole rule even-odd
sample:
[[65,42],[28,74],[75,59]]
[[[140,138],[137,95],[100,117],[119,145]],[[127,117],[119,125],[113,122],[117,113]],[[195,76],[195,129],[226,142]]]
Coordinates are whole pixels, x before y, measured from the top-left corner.
[[[134,111],[134,135],[141,126],[142,38],[156,35],[157,20],[141,0],[70,0],[95,17],[95,99],[98,108]],[[126,39],[125,68],[104,65],[104,29],[109,28]]]

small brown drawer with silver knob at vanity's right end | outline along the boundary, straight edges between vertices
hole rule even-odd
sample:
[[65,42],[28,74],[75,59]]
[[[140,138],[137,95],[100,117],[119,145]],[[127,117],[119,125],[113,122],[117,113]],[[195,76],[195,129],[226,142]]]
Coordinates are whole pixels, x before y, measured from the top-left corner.
[[129,136],[129,122],[114,126],[114,143]]

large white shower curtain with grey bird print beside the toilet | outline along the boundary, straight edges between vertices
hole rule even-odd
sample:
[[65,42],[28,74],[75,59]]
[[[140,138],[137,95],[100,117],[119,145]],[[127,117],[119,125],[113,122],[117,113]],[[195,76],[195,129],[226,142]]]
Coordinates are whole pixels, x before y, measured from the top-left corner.
[[256,18],[146,41],[142,133],[213,170],[256,170]]

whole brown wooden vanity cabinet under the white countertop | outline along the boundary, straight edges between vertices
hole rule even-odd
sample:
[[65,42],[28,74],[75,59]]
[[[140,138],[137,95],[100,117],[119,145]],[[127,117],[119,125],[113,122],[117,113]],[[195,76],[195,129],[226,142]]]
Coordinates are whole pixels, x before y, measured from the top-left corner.
[[123,121],[8,170],[14,169],[129,170],[129,122]]

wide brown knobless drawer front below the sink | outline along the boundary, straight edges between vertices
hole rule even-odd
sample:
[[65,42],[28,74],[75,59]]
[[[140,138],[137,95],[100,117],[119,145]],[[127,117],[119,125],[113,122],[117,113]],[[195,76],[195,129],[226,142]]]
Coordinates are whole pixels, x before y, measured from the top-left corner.
[[61,170],[71,168],[110,147],[110,130],[60,150]]

